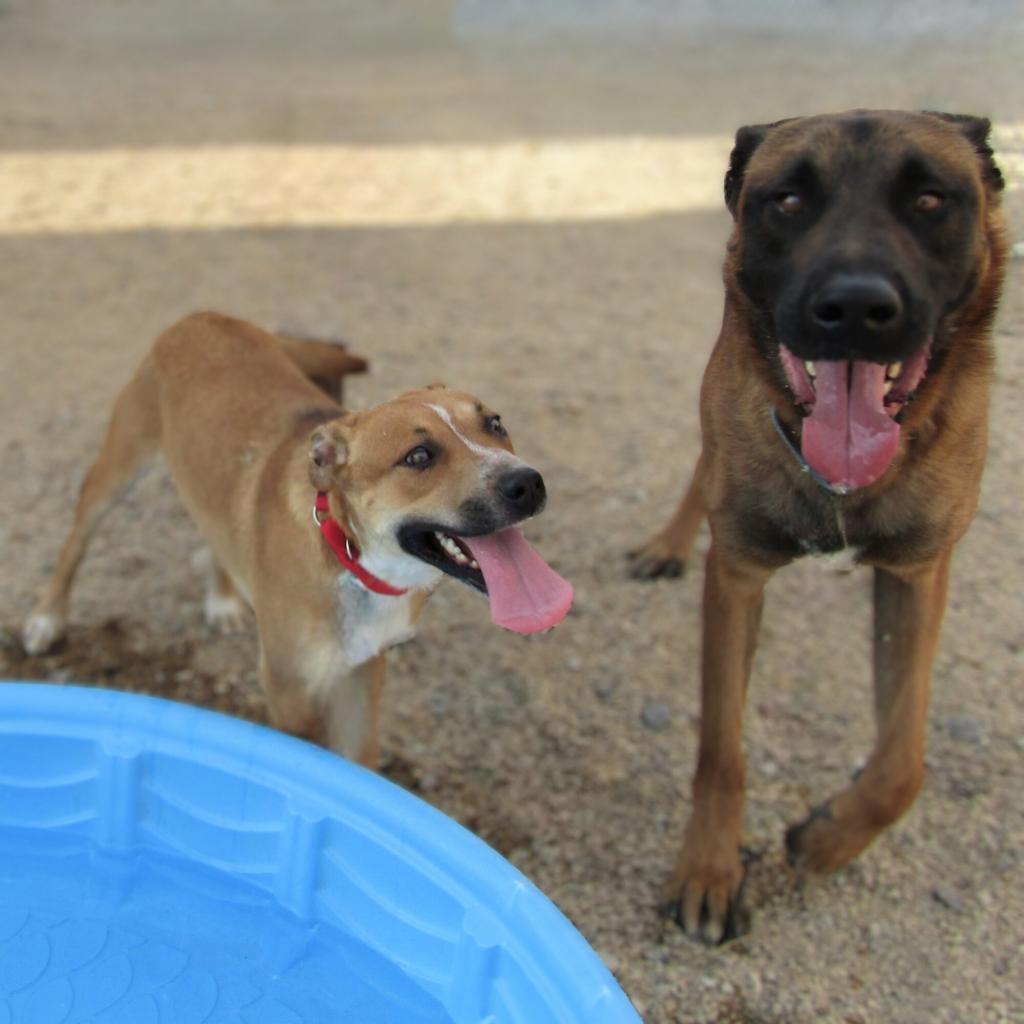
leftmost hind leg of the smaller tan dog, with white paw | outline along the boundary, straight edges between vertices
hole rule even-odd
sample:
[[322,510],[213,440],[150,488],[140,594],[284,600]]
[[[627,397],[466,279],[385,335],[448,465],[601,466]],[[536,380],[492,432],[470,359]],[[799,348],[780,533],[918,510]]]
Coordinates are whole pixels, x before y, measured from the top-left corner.
[[103,446],[82,481],[75,522],[46,591],[26,621],[22,642],[41,654],[62,636],[75,573],[93,530],[160,443],[160,409],[148,359],[114,406]]

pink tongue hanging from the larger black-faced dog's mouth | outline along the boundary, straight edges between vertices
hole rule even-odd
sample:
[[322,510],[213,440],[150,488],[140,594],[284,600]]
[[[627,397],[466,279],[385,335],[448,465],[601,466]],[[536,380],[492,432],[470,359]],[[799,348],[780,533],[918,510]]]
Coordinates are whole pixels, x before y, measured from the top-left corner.
[[886,368],[877,362],[815,362],[814,406],[804,420],[804,458],[833,486],[873,483],[899,446],[899,424],[885,410]]

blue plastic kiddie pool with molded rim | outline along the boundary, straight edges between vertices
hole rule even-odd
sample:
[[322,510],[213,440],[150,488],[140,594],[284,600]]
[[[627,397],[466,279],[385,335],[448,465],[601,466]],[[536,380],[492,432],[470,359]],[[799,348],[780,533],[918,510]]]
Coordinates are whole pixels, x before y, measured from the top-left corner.
[[0,684],[0,1024],[636,1024],[456,822],[154,697]]

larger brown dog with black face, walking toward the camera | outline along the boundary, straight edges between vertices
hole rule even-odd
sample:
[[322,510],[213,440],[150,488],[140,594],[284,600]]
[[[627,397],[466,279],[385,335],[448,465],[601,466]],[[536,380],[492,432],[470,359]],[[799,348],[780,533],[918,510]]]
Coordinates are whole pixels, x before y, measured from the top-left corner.
[[703,446],[669,525],[634,555],[678,575],[708,517],[700,741],[668,906],[737,927],[741,724],[762,594],[794,558],[874,569],[878,739],[857,779],[788,829],[830,871],[911,805],[953,546],[985,461],[1002,182],[980,118],[854,111],[741,128],[725,179],[725,313]]

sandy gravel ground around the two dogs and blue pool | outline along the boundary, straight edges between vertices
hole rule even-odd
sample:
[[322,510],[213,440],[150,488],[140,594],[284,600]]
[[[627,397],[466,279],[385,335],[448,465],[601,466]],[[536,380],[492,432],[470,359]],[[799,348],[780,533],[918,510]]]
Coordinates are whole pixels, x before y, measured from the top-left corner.
[[[790,876],[784,825],[871,742],[869,580],[780,573],[746,722],[754,930],[723,949],[655,913],[689,802],[701,571],[640,584],[624,560],[697,451],[731,132],[852,105],[988,113],[1020,239],[1020,29],[499,45],[454,38],[432,3],[0,0],[0,183],[19,197],[0,220],[0,675],[264,720],[253,632],[205,630],[199,538],[162,470],[101,528],[67,644],[29,660],[16,631],[162,328],[213,307],[345,337],[373,359],[353,406],[442,378],[501,411],[551,494],[531,539],[579,592],[524,639],[443,586],[391,657],[387,774],[550,894],[649,1024],[1024,1021],[1024,263],[924,793],[837,877]],[[331,170],[345,146],[354,178]]]

